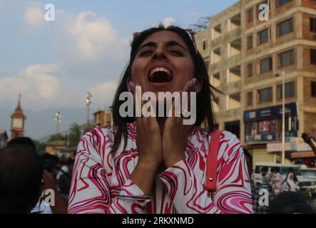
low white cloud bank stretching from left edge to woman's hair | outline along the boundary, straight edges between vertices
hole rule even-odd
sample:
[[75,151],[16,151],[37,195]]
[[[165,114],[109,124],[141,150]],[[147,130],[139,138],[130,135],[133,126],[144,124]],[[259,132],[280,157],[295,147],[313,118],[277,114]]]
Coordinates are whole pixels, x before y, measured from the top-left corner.
[[[82,85],[81,81],[67,81],[59,73],[56,64],[34,64],[15,76],[0,76],[0,107],[15,106],[18,94],[22,93],[22,108],[43,110],[45,108],[83,108],[86,91],[93,95],[92,107],[108,108],[116,93],[117,83],[93,83]],[[95,86],[93,86],[95,85]]]

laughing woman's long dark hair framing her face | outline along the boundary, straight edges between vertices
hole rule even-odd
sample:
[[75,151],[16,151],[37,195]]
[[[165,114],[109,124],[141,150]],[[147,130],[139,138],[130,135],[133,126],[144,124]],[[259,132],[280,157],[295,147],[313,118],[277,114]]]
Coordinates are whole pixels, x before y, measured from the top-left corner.
[[[128,123],[133,123],[135,118],[122,118],[119,113],[119,108],[124,100],[119,100],[119,96],[121,93],[128,91],[126,81],[131,77],[131,68],[133,65],[133,61],[136,58],[138,48],[141,46],[141,43],[153,33],[158,31],[173,31],[177,33],[188,46],[188,51],[190,53],[191,58],[193,59],[193,64],[195,67],[194,76],[198,78],[198,80],[202,81],[202,88],[199,93],[197,93],[196,99],[196,108],[197,115],[195,125],[200,126],[202,123],[205,124],[206,129],[208,130],[208,134],[214,130],[215,127],[215,118],[213,115],[211,97],[214,99],[213,90],[220,93],[220,91],[210,85],[210,81],[208,78],[208,71],[205,67],[205,62],[203,57],[195,50],[195,45],[190,38],[190,35],[185,29],[180,28],[178,26],[165,26],[161,25],[156,28],[148,28],[141,33],[138,33],[134,36],[133,41],[131,42],[131,56],[128,66],[126,67],[125,72],[123,73],[123,77],[121,78],[121,82],[118,85],[116,90],[116,95],[113,100],[112,110],[113,110],[113,131],[115,134],[114,143],[113,143],[113,151],[118,149],[118,145],[121,144],[121,139],[124,139],[124,149],[126,148],[127,143],[127,125]],[[216,102],[216,101],[215,101]]]

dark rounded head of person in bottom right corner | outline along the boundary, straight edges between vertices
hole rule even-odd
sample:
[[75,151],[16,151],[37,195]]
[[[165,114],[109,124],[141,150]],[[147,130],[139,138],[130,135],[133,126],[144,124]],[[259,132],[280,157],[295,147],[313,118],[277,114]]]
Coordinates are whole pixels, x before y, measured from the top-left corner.
[[280,193],[270,203],[270,214],[314,214],[298,192]]

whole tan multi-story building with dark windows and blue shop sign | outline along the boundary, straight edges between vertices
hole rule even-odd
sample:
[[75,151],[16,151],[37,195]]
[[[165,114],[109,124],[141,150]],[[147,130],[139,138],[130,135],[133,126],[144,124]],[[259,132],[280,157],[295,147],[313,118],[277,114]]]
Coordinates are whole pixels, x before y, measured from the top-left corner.
[[240,0],[212,16],[196,40],[223,92],[214,105],[219,128],[235,133],[255,162],[280,161],[284,78],[285,157],[315,162],[300,135],[316,124],[316,1]]

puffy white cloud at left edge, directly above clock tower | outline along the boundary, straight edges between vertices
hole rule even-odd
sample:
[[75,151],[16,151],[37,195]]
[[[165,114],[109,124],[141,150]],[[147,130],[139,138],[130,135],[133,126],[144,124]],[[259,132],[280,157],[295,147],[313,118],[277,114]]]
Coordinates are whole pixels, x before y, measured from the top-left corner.
[[53,73],[57,70],[58,66],[55,64],[37,64],[28,66],[16,76],[1,77],[1,103],[16,103],[16,95],[19,92],[32,105],[44,105],[56,101],[60,85]]

